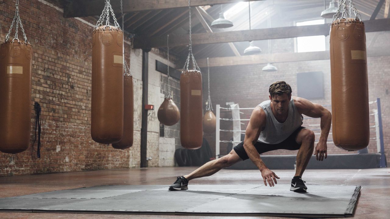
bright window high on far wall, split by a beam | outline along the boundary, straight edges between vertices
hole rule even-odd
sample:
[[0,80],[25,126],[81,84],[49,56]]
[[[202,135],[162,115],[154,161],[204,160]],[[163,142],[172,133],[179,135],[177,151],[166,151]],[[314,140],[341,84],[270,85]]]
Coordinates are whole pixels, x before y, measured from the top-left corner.
[[[324,24],[324,19],[297,22],[296,26]],[[298,53],[325,51],[325,36],[297,37],[296,48]]]

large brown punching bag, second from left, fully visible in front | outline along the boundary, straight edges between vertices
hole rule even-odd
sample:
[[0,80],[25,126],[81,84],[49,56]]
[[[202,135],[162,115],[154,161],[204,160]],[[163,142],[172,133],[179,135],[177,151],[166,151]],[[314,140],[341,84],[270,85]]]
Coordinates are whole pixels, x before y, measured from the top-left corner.
[[91,137],[117,143],[123,136],[123,32],[96,28],[92,37]]

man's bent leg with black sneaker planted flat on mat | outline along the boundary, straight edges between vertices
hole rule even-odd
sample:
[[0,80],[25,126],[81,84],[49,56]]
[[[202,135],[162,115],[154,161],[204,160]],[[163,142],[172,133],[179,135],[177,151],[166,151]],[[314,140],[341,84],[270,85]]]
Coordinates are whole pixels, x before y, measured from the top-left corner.
[[291,180],[291,191],[306,192],[307,190],[305,181],[301,177],[310,161],[310,157],[312,157],[314,140],[314,132],[310,129],[302,129],[296,137],[296,142],[301,144],[301,147],[296,155],[296,171],[293,180]]

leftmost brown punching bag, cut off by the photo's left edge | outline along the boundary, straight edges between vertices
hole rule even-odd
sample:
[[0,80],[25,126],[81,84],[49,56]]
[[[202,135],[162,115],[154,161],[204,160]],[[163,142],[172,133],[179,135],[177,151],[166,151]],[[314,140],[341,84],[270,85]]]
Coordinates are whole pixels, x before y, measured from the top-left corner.
[[30,144],[32,46],[0,45],[0,151],[16,154]]

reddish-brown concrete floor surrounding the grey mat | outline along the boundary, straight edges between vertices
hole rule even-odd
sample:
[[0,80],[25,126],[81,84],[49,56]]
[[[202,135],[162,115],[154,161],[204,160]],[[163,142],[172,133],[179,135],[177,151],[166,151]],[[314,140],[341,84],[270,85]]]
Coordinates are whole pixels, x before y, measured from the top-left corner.
[[[0,177],[0,198],[43,193],[54,190],[90,187],[94,185],[155,185],[172,184],[176,176],[185,175],[196,167],[138,168],[121,170],[98,170],[72,173],[53,173],[45,175]],[[279,184],[289,184],[294,170],[274,170],[280,177]],[[362,185],[355,214],[356,219],[390,218],[390,168],[363,170],[306,170],[302,177],[308,185]],[[262,184],[257,170],[221,170],[211,177],[191,180],[191,184]],[[278,186],[278,185],[276,185]],[[279,185],[282,186],[282,185]],[[272,187],[269,188],[272,190]],[[286,188],[289,189],[289,188]],[[326,193],[326,191],[324,191]],[[182,215],[118,215],[118,214],[53,214],[53,213],[11,213],[0,212],[0,218],[232,218],[220,216],[182,216]],[[234,217],[269,218],[279,217]],[[286,217],[281,217],[285,219]]]

